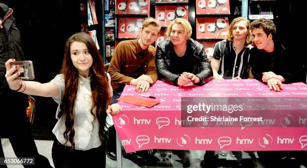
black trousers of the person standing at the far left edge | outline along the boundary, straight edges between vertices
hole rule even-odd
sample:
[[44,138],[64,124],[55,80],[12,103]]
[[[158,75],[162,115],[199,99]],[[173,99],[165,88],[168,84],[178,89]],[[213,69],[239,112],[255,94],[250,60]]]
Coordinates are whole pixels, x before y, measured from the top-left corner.
[[[0,136],[10,139],[17,157],[35,157],[35,166],[24,167],[52,167],[49,160],[38,153],[32,137],[31,124],[26,114],[27,95],[12,91],[7,85],[1,86],[0,104]],[[2,147],[0,157],[5,157]]]

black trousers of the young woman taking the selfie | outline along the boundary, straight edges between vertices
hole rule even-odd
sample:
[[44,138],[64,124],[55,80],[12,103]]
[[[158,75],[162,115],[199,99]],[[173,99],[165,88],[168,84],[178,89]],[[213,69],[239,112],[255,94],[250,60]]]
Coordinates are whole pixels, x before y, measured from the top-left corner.
[[105,145],[89,150],[77,150],[53,142],[52,159],[56,168],[99,167],[105,168]]

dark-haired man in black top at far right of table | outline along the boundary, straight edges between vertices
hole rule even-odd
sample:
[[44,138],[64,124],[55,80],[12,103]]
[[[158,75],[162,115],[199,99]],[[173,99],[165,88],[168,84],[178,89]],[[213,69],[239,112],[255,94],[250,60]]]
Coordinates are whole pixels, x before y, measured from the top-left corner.
[[291,53],[281,44],[276,36],[276,27],[273,21],[268,19],[254,20],[251,23],[254,47],[250,51],[251,74],[257,80],[266,82],[274,91],[280,91],[282,83],[290,83],[301,80],[299,74],[303,72],[303,66],[299,61],[294,63]]

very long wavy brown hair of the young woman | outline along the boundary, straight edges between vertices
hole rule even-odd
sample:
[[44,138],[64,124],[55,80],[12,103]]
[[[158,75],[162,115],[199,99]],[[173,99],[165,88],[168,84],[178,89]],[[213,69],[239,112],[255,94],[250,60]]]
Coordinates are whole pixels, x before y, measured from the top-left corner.
[[[65,144],[69,141],[71,143],[71,149],[75,148],[74,136],[74,115],[73,108],[78,91],[78,70],[73,65],[70,55],[70,46],[73,42],[83,42],[88,52],[93,58],[93,64],[90,67],[90,85],[92,91],[92,107],[91,114],[94,116],[94,120],[99,122],[99,138],[101,142],[105,142],[106,135],[104,127],[106,126],[106,109],[110,102],[109,87],[105,68],[102,62],[100,52],[97,50],[96,44],[93,39],[86,33],[73,34],[65,44],[64,59],[62,63],[61,73],[64,74],[65,89],[63,101],[61,104],[61,112],[59,117],[65,116],[66,130],[63,133],[65,138]],[[96,109],[95,109],[96,108]],[[96,111],[94,111],[96,110]],[[93,120],[93,121],[94,121]],[[94,126],[92,121],[92,125]]]

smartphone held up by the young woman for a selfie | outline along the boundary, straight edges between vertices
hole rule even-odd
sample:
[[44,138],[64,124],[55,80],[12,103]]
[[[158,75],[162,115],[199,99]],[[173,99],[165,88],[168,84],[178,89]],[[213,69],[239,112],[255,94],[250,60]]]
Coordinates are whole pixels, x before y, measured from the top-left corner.
[[12,63],[12,66],[15,65],[18,65],[16,73],[17,72],[21,73],[17,77],[18,79],[33,80],[35,78],[32,61],[15,61]]

